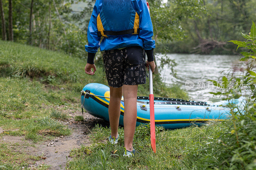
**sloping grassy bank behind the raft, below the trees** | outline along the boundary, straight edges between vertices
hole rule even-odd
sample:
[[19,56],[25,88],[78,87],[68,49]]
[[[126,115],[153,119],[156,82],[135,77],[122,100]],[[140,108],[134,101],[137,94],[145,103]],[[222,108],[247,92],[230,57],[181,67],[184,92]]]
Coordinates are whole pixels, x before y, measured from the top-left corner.
[[[65,91],[79,93],[87,83],[107,85],[102,62],[95,63],[95,75],[84,73],[85,59],[71,57],[60,52],[0,41],[0,77],[32,78],[43,85]],[[148,79],[147,79],[148,81]],[[147,95],[149,85],[140,85],[138,95]],[[188,99],[188,95],[179,86],[162,83],[159,75],[154,75],[155,96]]]

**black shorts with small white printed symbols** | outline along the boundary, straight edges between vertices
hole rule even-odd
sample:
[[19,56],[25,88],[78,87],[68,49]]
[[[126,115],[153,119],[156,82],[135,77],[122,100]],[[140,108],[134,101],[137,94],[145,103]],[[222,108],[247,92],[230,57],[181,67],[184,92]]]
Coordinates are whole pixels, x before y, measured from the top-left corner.
[[107,50],[103,54],[108,85],[146,84],[145,51],[139,46]]

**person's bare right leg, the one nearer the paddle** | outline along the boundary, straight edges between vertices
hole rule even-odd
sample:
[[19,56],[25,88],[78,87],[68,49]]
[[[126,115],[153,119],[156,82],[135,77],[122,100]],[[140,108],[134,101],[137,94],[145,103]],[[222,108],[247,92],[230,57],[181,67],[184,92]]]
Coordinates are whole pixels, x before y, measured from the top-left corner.
[[124,85],[124,147],[132,151],[137,120],[138,85]]

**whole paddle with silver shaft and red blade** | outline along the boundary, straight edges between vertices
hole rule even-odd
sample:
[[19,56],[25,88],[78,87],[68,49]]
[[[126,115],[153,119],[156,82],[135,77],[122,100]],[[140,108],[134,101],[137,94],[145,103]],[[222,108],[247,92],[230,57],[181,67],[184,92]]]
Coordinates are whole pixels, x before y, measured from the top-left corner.
[[151,139],[151,147],[154,153],[156,153],[156,129],[155,129],[153,77],[152,77],[152,70],[150,65],[148,70],[149,70],[150,139]]

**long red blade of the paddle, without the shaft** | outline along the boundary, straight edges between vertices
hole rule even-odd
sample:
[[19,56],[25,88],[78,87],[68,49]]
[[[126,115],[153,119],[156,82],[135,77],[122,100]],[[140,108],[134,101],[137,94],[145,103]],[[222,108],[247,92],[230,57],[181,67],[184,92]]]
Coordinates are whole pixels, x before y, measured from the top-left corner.
[[150,140],[151,147],[156,153],[156,129],[155,129],[155,110],[154,110],[154,94],[149,94],[149,106],[150,106]]

